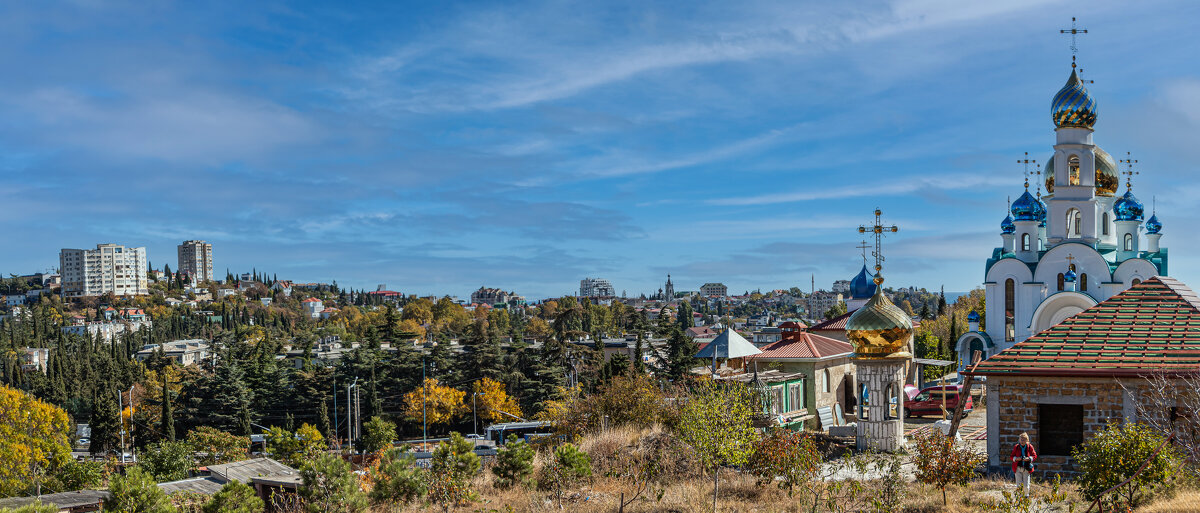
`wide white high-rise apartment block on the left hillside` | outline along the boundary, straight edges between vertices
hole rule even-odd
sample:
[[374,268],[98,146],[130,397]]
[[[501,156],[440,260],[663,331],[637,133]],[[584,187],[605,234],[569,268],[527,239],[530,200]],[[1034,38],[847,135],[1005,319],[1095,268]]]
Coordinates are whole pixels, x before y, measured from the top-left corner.
[[149,294],[146,248],[97,245],[96,249],[62,249],[59,267],[64,297]]

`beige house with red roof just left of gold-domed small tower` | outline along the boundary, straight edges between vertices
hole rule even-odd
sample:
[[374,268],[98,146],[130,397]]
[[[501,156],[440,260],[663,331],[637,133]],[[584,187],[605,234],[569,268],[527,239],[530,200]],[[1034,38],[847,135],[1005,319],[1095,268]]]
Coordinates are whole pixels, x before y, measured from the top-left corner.
[[799,400],[798,408],[808,410],[804,422],[809,428],[818,428],[818,408],[841,405],[841,411],[854,411],[854,363],[850,360],[853,345],[812,333],[799,322],[784,322],[779,327],[782,339],[748,357],[746,372],[773,369],[808,376],[803,396],[794,400]]

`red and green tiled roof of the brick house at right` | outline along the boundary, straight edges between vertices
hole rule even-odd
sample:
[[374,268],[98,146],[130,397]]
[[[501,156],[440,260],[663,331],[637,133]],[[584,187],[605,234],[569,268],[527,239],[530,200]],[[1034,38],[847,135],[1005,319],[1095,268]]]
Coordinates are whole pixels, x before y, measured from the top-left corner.
[[1200,297],[1154,277],[979,363],[980,375],[1139,375],[1200,370]]

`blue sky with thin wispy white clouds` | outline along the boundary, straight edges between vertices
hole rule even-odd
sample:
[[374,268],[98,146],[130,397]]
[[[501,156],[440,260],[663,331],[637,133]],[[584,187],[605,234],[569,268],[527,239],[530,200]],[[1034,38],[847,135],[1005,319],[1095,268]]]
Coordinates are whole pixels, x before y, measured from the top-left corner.
[[[214,245],[217,272],[530,298],[968,290],[1054,144],[1070,17],[1096,141],[1200,286],[1200,4],[7,2],[2,272]],[[1148,206],[1148,205],[1147,205]]]

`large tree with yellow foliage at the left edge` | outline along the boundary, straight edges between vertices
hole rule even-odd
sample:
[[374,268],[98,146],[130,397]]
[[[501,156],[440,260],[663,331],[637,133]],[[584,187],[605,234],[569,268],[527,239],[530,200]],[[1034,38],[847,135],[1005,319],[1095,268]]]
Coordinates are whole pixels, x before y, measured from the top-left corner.
[[42,476],[71,460],[67,412],[0,386],[0,496],[37,488]]

